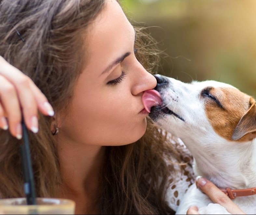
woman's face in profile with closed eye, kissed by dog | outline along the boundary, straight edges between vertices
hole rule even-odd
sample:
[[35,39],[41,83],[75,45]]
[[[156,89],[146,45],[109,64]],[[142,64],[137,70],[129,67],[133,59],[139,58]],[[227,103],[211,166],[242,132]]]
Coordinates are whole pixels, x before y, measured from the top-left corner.
[[58,118],[65,141],[125,145],[146,129],[143,91],[156,79],[134,54],[135,32],[115,0],[107,0],[85,37],[85,67],[74,87],[71,109]]

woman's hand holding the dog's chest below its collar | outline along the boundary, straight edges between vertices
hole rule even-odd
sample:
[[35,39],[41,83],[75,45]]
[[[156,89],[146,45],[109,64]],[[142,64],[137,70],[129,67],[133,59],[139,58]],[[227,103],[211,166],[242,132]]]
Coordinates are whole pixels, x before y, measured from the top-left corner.
[[[231,214],[245,214],[228,196],[226,196],[219,188],[217,188],[212,182],[205,178],[199,178],[197,180],[197,187],[203,191],[213,203],[220,204]],[[187,210],[187,214],[199,214],[198,208],[195,206],[190,207]]]

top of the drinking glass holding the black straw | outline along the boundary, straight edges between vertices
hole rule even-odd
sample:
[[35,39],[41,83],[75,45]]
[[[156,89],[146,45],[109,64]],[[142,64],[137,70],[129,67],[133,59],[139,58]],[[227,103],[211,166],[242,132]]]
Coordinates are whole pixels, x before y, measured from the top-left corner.
[[36,205],[27,205],[26,198],[0,200],[0,214],[74,214],[75,202],[70,199],[36,198]]

